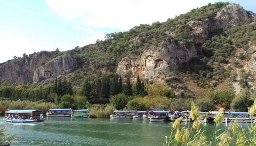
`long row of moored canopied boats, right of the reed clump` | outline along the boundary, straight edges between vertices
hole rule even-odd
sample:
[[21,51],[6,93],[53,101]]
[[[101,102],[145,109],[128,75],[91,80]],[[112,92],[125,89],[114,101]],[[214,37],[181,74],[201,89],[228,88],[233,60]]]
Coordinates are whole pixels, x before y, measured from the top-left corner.
[[[219,111],[199,112],[202,115],[200,122],[213,122]],[[190,111],[114,111],[110,118],[116,119],[141,119],[150,121],[175,121],[177,118],[182,118],[182,122],[192,122],[189,118]],[[229,123],[237,120],[237,122],[255,122],[255,118],[251,118],[249,112],[223,112],[224,118],[222,123]]]

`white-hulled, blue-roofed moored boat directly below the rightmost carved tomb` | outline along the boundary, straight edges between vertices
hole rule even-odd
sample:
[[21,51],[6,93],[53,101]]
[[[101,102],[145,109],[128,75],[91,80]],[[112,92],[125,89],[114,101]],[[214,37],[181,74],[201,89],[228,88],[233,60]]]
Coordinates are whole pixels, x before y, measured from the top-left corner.
[[149,114],[152,116],[149,117],[150,121],[165,121],[168,119],[169,111],[150,111]]

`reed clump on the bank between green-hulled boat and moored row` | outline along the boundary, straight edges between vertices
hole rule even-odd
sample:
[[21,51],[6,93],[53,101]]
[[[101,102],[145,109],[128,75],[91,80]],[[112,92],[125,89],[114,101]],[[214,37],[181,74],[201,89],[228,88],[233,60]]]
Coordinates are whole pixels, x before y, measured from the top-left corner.
[[92,106],[90,110],[90,118],[110,118],[109,115],[114,111],[114,106]]

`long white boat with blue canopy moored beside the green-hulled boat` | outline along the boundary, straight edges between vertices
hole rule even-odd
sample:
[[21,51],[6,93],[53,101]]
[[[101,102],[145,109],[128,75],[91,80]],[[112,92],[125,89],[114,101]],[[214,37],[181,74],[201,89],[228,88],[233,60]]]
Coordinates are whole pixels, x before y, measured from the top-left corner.
[[46,112],[46,116],[64,116],[68,117],[71,116],[71,108],[57,108],[57,109],[50,109]]

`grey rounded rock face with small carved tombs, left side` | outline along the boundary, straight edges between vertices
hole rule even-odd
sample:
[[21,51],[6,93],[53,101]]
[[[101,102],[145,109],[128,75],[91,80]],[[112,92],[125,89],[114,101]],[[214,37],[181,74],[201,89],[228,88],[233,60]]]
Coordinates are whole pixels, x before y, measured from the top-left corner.
[[53,58],[34,70],[33,81],[41,82],[48,78],[65,76],[80,66],[79,59],[69,53]]

